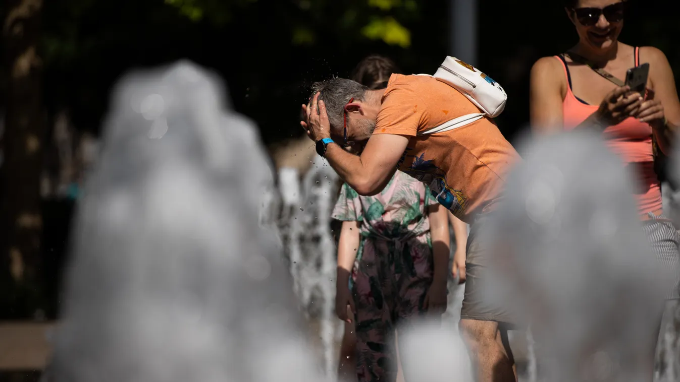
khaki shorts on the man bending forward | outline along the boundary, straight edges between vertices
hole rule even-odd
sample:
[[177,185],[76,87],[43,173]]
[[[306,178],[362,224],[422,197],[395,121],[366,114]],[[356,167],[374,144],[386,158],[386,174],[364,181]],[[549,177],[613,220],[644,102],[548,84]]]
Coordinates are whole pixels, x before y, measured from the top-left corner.
[[465,260],[465,294],[463,297],[460,318],[462,320],[495,321],[503,324],[516,324],[510,313],[509,299],[503,295],[507,292],[501,288],[494,278],[490,265],[494,263],[493,255],[480,240],[479,231],[488,216],[481,215],[470,227],[466,246]]

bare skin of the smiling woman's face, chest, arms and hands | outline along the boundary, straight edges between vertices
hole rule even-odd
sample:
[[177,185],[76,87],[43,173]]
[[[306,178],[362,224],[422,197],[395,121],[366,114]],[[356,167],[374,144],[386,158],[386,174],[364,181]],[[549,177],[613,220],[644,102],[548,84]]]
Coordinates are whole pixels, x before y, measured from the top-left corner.
[[[594,7],[604,9],[619,0],[580,0],[576,8]],[[624,79],[626,71],[634,62],[634,47],[618,41],[624,20],[609,22],[602,14],[592,26],[584,25],[572,9],[565,9],[566,16],[575,26],[578,43],[571,48],[594,64],[602,67],[615,77]],[[649,62],[647,88],[653,98],[644,100],[628,88],[616,85],[600,77],[585,65],[570,65],[574,94],[592,105],[599,105],[598,111],[581,123],[581,127],[596,126],[601,129],[612,126],[628,117],[649,123],[659,148],[669,153],[670,144],[677,126],[680,126],[680,100],[675,88],[673,71],[666,56],[656,47],[640,48],[641,62]],[[531,71],[530,114],[532,126],[537,132],[562,130],[562,102],[568,83],[560,62],[552,57],[541,58]]]

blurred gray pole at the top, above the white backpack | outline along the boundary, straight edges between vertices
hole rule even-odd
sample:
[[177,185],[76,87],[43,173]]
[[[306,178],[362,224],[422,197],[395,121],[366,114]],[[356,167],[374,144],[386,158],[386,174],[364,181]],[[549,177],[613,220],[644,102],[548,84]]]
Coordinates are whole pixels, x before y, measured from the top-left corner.
[[477,0],[451,0],[450,52],[471,65],[477,65]]

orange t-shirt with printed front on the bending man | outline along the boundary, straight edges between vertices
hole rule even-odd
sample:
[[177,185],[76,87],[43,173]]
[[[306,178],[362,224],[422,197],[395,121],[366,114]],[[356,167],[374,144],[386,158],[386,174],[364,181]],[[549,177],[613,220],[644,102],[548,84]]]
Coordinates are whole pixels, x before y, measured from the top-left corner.
[[373,134],[409,136],[398,169],[430,187],[466,223],[500,199],[511,165],[520,158],[488,118],[447,132],[417,136],[479,109],[458,90],[429,76],[393,74]]

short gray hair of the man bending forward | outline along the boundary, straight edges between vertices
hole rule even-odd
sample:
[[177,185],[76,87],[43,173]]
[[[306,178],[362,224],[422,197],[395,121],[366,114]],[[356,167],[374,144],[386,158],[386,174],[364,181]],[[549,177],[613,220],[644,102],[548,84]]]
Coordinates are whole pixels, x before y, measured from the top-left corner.
[[345,105],[350,99],[366,100],[366,86],[346,78],[333,78],[327,81],[315,82],[311,85],[311,97],[317,92],[319,100],[326,104],[326,113],[331,130],[343,128],[343,117],[345,115]]

